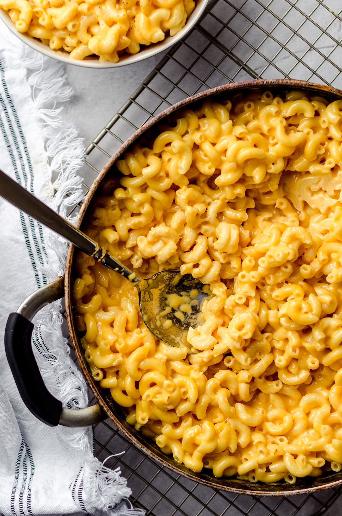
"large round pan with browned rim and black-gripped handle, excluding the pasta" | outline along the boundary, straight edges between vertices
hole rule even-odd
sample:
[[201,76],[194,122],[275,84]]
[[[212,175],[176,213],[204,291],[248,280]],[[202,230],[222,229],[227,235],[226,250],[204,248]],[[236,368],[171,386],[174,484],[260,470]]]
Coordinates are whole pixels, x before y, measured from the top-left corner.
[[[123,143],[92,184],[81,207],[79,216],[77,217],[77,227],[82,227],[82,223],[89,213],[89,205],[91,204],[92,199],[95,197],[99,186],[104,180],[106,174],[112,169],[116,160],[132,145],[133,142],[142,137],[142,135],[146,136],[147,132],[151,132],[158,122],[165,117],[174,114],[184,106],[191,105],[193,107],[194,104],[202,101],[208,96],[215,96],[217,99],[220,99],[222,96],[226,97],[237,92],[246,93],[260,88],[269,89],[275,93],[301,89],[324,96],[328,100],[342,99],[342,91],[333,87],[290,79],[255,80],[244,83],[228,84],[197,93],[196,95],[169,107],[157,117],[154,117],[125,143]],[[92,378],[88,363],[84,357],[80,338],[77,335],[71,299],[74,251],[74,246],[70,245],[65,277],[57,279],[50,285],[46,285],[30,295],[20,305],[17,313],[10,314],[6,326],[5,348],[14,380],[27,408],[41,421],[50,426],[56,426],[58,424],[65,426],[87,426],[96,424],[100,422],[101,419],[109,417],[119,430],[146,454],[152,456],[158,462],[169,467],[177,474],[181,474],[195,482],[203,483],[214,489],[250,495],[286,496],[289,494],[304,494],[321,489],[332,488],[342,483],[342,471],[339,473],[327,472],[319,478],[298,478],[297,483],[294,485],[282,482],[269,484],[261,484],[258,482],[248,483],[238,478],[216,478],[209,470],[205,469],[200,473],[195,473],[183,464],[177,463],[172,457],[165,455],[154,441],[145,437],[142,433],[135,430],[133,426],[128,424],[125,414],[121,407],[113,400],[110,391],[101,389],[99,383]],[[49,393],[39,373],[31,346],[31,336],[34,328],[31,321],[34,315],[44,305],[63,297],[63,295],[65,296],[66,314],[75,354],[88,385],[97,399],[97,404],[95,406],[79,410],[62,407],[61,402]]]

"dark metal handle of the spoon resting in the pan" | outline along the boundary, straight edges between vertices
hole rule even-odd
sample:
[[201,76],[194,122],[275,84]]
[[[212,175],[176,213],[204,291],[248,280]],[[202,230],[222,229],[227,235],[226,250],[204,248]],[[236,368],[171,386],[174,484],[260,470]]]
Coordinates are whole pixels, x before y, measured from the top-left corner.
[[77,248],[81,249],[81,251],[89,256],[93,256],[96,261],[102,262],[106,267],[116,270],[119,274],[133,282],[139,280],[131,270],[115,260],[115,258],[103,250],[97,242],[82,233],[81,230],[77,229],[73,224],[70,224],[70,222],[54,212],[49,206],[46,206],[46,204],[32,195],[32,193],[25,190],[25,188],[20,186],[17,182],[13,181],[1,169],[0,196],[55,233],[58,233],[58,235],[74,244]]

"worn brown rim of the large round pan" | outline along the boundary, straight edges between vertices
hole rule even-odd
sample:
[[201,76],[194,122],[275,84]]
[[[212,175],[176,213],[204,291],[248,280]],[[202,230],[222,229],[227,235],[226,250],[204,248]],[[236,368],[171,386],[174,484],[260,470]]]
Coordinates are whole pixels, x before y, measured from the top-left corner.
[[[94,183],[91,185],[84,201],[81,206],[79,215],[77,216],[75,225],[76,227],[80,227],[83,221],[83,218],[87,212],[87,209],[99,187],[102,180],[104,179],[107,172],[111,169],[113,164],[116,162],[116,160],[128,149],[129,146],[139,137],[142,136],[149,128],[156,125],[160,120],[163,118],[171,115],[173,112],[175,112],[178,109],[181,109],[182,107],[194,103],[198,100],[205,99],[208,96],[216,95],[219,93],[227,92],[231,93],[234,91],[240,91],[243,90],[244,92],[247,92],[248,89],[254,90],[259,88],[285,88],[285,89],[301,89],[301,90],[308,90],[308,91],[314,91],[323,95],[332,95],[336,96],[339,99],[342,99],[342,91],[334,88],[332,86],[327,85],[320,85],[315,83],[310,83],[305,80],[296,80],[296,79],[257,79],[257,80],[248,80],[240,83],[230,83],[223,86],[218,86],[216,88],[212,88],[209,90],[201,91],[199,93],[196,93],[195,95],[189,96],[188,98],[166,108],[164,111],[160,112],[157,116],[153,117],[151,120],[146,122],[142,127],[140,127],[132,136],[130,136],[122,145],[120,148],[113,154],[113,156],[108,160],[106,165],[103,167],[101,172],[98,174],[97,178],[95,179]],[[266,486],[269,486],[268,484],[262,484],[259,483],[251,483],[247,481],[241,481],[241,487],[231,487],[229,485],[224,485],[219,483],[220,479],[217,479],[217,483],[215,481],[215,477],[210,480],[211,477],[208,475],[205,475],[207,478],[203,478],[200,476],[200,474],[196,474],[192,470],[185,468],[186,471],[183,471],[182,465],[177,465],[176,461],[173,460],[173,463],[169,463],[165,459],[169,456],[166,454],[162,454],[163,457],[158,456],[153,450],[149,449],[145,444],[141,443],[140,441],[137,441],[135,436],[133,435],[133,432],[127,430],[122,423],[118,420],[117,416],[111,408],[106,404],[104,399],[101,399],[99,396],[99,392],[96,388],[96,380],[93,380],[85,366],[84,362],[84,356],[80,352],[79,349],[79,343],[77,342],[77,333],[75,331],[74,327],[74,321],[73,321],[73,312],[72,312],[72,302],[71,302],[71,273],[72,273],[72,262],[73,262],[73,255],[74,255],[74,246],[72,244],[69,245],[68,248],[68,255],[67,255],[67,264],[66,264],[66,274],[65,274],[65,304],[66,304],[66,314],[67,314],[67,320],[68,320],[68,326],[70,330],[70,337],[71,341],[74,347],[74,351],[77,357],[77,361],[79,362],[82,372],[87,380],[88,385],[90,386],[91,391],[94,393],[94,396],[97,398],[98,403],[101,405],[104,412],[107,414],[107,416],[115,423],[115,425],[119,428],[119,430],[125,434],[125,436],[133,443],[135,446],[137,446],[140,450],[142,450],[145,454],[149,455],[153,459],[157,460],[160,464],[163,466],[166,466],[168,469],[174,471],[175,473],[178,473],[182,476],[185,476],[186,478],[202,483],[206,486],[209,486],[213,489],[219,489],[222,491],[230,491],[235,492],[239,494],[248,494],[248,495],[257,495],[257,496],[289,496],[289,495],[295,495],[295,494],[308,494],[315,491],[320,491],[322,489],[328,489],[333,488],[338,485],[341,485],[342,483],[342,474],[340,475],[340,478],[337,480],[331,480],[330,478],[326,478],[327,481],[324,482],[324,477],[321,477],[321,484],[319,485],[308,485],[307,487],[301,486],[296,487],[296,485],[290,485],[286,484],[287,489],[284,490],[283,487],[285,486],[283,483],[273,483],[273,486],[276,486],[279,488],[278,491],[276,490],[266,490]],[[103,390],[104,391],[104,390]],[[133,431],[134,430],[134,427]],[[172,460],[172,459],[170,459]],[[332,476],[336,476],[338,473],[332,474]],[[230,477],[227,478],[227,481],[229,481]],[[319,480],[318,480],[319,481]],[[244,487],[245,486],[245,487]]]

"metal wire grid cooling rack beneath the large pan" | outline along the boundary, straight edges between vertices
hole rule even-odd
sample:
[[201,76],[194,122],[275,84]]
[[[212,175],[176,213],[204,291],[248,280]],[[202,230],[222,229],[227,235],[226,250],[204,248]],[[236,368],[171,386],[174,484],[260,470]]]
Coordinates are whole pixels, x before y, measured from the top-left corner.
[[[139,126],[201,90],[240,80],[286,77],[341,88],[341,12],[339,0],[213,0],[197,26],[172,47],[90,143],[84,172],[89,176],[90,167],[98,174]],[[88,189],[85,183],[84,188]],[[125,454],[106,465],[120,466],[132,489],[133,505],[146,509],[149,516],[318,516],[342,492],[341,488],[258,497],[216,491],[161,467],[132,446],[112,422],[95,427],[100,460],[123,450]]]

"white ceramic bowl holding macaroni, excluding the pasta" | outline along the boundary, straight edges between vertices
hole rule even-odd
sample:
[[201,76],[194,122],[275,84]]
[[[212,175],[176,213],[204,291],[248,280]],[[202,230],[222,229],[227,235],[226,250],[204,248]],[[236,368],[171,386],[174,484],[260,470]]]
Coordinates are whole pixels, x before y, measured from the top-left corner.
[[[119,58],[117,63],[112,62],[100,62],[97,57],[89,56],[83,59],[82,61],[78,61],[76,59],[70,59],[69,53],[60,50],[52,50],[49,46],[44,45],[41,41],[32,38],[26,34],[21,34],[15,28],[14,23],[10,19],[8,13],[0,8],[0,20],[2,20],[5,25],[12,31],[15,36],[17,36],[21,41],[32,47],[34,50],[37,50],[41,54],[44,54],[48,57],[53,57],[58,61],[63,61],[75,66],[82,66],[86,68],[115,68],[124,65],[131,65],[137,61],[142,61],[148,57],[154,56],[159,52],[163,52],[163,50],[168,49],[170,46],[174,45],[177,41],[179,41],[185,34],[187,34],[190,29],[195,25],[195,23],[200,18],[201,14],[205,10],[209,0],[196,0],[196,6],[193,12],[190,14],[189,18],[186,20],[185,26],[179,31],[175,36],[166,36],[163,41],[159,43],[150,44],[149,46],[142,46],[142,50],[137,54],[126,54]],[[1,29],[0,29],[1,34]]]

